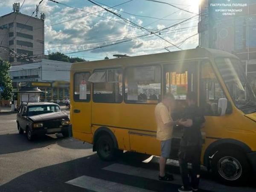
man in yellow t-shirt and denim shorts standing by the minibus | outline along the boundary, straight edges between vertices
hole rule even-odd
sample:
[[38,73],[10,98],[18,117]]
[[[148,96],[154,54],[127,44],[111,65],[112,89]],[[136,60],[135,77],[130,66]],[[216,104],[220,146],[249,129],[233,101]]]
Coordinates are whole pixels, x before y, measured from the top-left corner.
[[171,152],[172,127],[174,124],[169,112],[169,108],[172,109],[174,105],[174,96],[172,93],[166,93],[166,95],[163,96],[163,101],[158,103],[155,108],[155,117],[157,121],[157,140],[161,141],[159,180],[173,180],[172,175],[166,174],[165,166],[166,160],[169,158]]

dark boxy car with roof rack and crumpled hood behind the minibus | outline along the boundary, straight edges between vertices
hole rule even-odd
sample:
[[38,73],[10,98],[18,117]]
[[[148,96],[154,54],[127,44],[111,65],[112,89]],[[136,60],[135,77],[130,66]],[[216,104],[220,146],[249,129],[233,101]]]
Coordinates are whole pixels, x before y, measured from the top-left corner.
[[50,102],[26,102],[20,105],[17,113],[19,134],[26,131],[29,141],[38,134],[62,133],[69,135],[70,119],[67,113],[61,112],[60,106]]

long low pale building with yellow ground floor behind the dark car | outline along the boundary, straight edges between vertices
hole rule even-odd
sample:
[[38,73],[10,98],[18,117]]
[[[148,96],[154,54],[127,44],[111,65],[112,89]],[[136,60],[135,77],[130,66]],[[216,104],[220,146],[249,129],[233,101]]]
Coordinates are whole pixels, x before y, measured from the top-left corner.
[[41,59],[41,61],[13,65],[9,71],[15,90],[21,87],[38,87],[40,99],[62,103],[70,91],[71,63]]

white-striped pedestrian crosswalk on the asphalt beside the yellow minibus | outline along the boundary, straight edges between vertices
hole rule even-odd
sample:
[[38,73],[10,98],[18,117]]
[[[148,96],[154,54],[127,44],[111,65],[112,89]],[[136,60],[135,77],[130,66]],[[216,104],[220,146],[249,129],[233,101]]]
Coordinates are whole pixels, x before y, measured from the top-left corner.
[[[145,167],[145,166],[144,166]],[[175,177],[174,181],[166,182],[166,181],[159,181],[158,180],[158,170],[157,169],[151,169],[149,166],[148,169],[137,167],[137,166],[131,166],[126,165],[122,163],[113,163],[111,165],[105,166],[102,169],[103,174],[112,173],[112,175],[116,174],[115,177],[120,177],[120,175],[124,175],[125,178],[127,176],[131,178],[143,178],[144,180],[149,180],[149,182],[153,181],[157,183],[157,185],[163,185],[167,184],[169,186],[172,186],[171,191],[177,191],[177,188],[179,186],[182,186],[182,180],[180,175],[173,174]],[[109,174],[111,175],[111,174]],[[108,177],[107,177],[108,178]],[[161,191],[161,190],[151,190],[151,189],[145,189],[143,185],[140,187],[138,186],[131,186],[128,184],[122,184],[118,182],[113,182],[109,178],[104,179],[102,178],[96,178],[91,176],[80,176],[77,178],[74,178],[73,180],[69,180],[66,182],[67,184],[71,184],[73,186],[78,186],[87,190],[93,190],[96,192],[153,192],[153,191]],[[174,187],[173,187],[174,186]],[[241,190],[238,187],[227,187],[224,185],[221,185],[213,180],[207,180],[202,178],[200,188],[202,191],[215,191],[215,192],[229,192],[232,190],[233,192],[240,192]]]

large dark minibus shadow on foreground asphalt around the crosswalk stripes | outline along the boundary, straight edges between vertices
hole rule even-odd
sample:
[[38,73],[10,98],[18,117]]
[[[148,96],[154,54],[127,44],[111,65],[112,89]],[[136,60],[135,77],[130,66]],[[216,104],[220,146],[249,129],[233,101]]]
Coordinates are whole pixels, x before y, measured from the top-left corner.
[[[93,154],[87,157],[78,158],[76,160],[58,163],[40,169],[35,169],[32,172],[28,172],[24,175],[16,177],[8,183],[0,186],[0,191],[84,192],[87,190],[65,183],[82,175],[95,177],[102,180],[108,180],[116,183],[122,183],[125,185],[135,186],[152,191],[177,191],[180,185],[174,183],[161,182],[158,180],[131,176],[102,169],[113,163],[121,163],[130,166],[142,167],[145,169],[158,170],[158,164],[154,163],[154,160],[153,162],[150,161],[149,163],[142,163],[141,160],[143,160],[143,158],[137,155],[138,154],[128,152],[124,153],[122,157],[117,161],[105,162],[100,160],[96,154]],[[168,166],[168,169],[172,173],[179,174],[178,167]],[[208,178],[209,176],[207,176],[207,172],[205,172],[202,174],[202,177]]]

